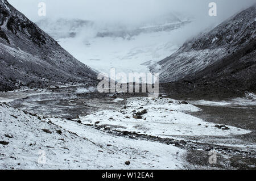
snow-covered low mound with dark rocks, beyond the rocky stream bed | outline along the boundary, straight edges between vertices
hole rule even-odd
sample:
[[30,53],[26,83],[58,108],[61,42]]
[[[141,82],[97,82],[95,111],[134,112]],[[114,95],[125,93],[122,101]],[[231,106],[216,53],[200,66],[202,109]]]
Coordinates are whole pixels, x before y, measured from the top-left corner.
[[[115,100],[114,100],[115,101]],[[136,112],[146,110],[142,119],[134,118]],[[81,117],[84,124],[106,125],[112,130],[143,133],[163,138],[173,136],[232,136],[246,134],[250,131],[231,127],[223,130],[216,124],[207,123],[189,112],[200,111],[191,104],[168,98],[129,98],[126,108],[119,110],[102,110]]]

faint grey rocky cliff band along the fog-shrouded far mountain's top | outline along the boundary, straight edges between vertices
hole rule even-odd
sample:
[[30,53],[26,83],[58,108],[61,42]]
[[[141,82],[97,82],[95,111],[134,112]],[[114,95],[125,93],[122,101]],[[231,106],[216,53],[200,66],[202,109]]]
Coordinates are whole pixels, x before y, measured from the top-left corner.
[[[181,15],[180,15],[181,16]],[[141,33],[176,30],[190,23],[188,18],[179,19],[175,14],[156,16],[141,23],[98,22],[82,19],[41,19],[35,22],[55,40],[75,37],[93,31],[94,37],[122,37],[123,39],[138,36]]]

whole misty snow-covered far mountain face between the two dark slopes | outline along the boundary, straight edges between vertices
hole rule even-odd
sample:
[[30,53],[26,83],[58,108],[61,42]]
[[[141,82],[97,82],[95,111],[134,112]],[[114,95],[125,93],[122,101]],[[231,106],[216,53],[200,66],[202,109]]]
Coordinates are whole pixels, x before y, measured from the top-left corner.
[[175,52],[179,46],[174,37],[189,22],[168,14],[131,24],[81,19],[43,19],[36,24],[77,60],[109,74],[111,68],[117,73],[148,72],[141,64]]

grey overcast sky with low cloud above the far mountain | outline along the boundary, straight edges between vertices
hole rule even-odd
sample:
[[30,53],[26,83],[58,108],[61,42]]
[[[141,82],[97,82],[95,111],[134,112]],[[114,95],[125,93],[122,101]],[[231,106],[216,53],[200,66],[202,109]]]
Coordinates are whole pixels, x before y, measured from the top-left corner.
[[217,18],[226,19],[255,0],[7,0],[32,21],[39,20],[38,3],[46,2],[47,18],[80,18],[136,22],[172,11],[210,19],[209,2],[217,3]]

